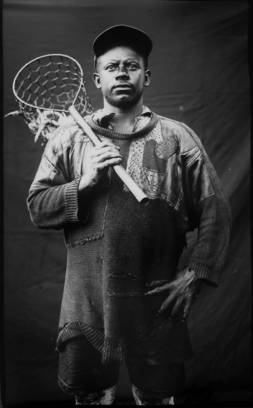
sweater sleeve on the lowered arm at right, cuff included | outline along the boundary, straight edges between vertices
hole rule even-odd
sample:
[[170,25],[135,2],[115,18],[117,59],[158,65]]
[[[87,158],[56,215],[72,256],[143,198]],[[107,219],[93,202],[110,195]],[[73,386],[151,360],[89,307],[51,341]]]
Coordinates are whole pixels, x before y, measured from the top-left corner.
[[195,280],[218,286],[229,247],[231,210],[216,171],[196,134],[183,125],[198,145],[198,152],[185,164],[185,195],[188,215],[198,239],[188,266]]

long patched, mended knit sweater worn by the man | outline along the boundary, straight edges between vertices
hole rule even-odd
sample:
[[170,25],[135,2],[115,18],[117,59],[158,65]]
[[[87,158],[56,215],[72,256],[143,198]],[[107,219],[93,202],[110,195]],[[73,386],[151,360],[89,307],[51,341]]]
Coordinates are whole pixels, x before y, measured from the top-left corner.
[[39,228],[64,228],[68,251],[57,350],[86,335],[103,363],[166,364],[193,352],[183,308],[156,313],[168,294],[145,296],[174,278],[185,234],[198,228],[188,265],[195,279],[217,286],[229,244],[231,213],[213,166],[185,124],[152,113],[133,133],[86,121],[120,147],[122,165],[150,197],[141,206],[110,169],[104,185],[81,200],[78,184],[92,144],[75,124],[49,140],[27,200]]

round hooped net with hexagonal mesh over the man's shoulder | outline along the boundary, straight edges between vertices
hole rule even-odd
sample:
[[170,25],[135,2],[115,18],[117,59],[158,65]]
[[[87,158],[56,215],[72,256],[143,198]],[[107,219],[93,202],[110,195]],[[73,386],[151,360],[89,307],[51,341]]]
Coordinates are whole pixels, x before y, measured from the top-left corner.
[[42,138],[42,145],[58,126],[72,120],[69,106],[75,104],[81,115],[93,111],[82,69],[67,55],[44,55],[26,64],[15,77],[13,92],[24,121]]

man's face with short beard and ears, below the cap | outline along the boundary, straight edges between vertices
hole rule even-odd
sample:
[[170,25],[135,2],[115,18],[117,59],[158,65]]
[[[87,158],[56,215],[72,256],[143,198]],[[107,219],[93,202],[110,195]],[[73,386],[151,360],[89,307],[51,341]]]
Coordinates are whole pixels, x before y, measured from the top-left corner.
[[97,88],[101,88],[110,105],[119,108],[139,102],[143,87],[150,80],[150,75],[145,74],[143,57],[129,47],[115,47],[101,55],[97,71],[93,77]]

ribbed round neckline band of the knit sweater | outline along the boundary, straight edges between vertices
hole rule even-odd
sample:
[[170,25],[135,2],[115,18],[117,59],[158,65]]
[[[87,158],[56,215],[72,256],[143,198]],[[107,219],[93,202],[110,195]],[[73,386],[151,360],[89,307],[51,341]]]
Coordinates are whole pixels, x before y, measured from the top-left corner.
[[144,126],[142,129],[140,129],[139,131],[132,132],[132,133],[114,132],[113,130],[105,129],[95,124],[93,122],[94,113],[92,113],[92,115],[87,115],[85,117],[85,120],[93,131],[95,131],[101,136],[108,137],[108,139],[123,139],[123,140],[137,139],[139,137],[143,137],[144,135],[147,135],[147,133],[150,133],[152,129],[154,129],[154,127],[156,126],[158,122],[158,116],[156,115],[156,113],[152,111],[151,113],[152,113],[152,118],[150,119],[150,122],[148,122],[148,124]]

